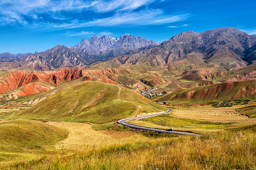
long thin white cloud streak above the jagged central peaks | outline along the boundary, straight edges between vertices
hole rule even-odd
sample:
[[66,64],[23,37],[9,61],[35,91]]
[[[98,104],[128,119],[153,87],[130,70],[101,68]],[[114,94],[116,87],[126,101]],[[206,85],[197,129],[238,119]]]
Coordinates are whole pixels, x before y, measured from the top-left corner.
[[160,25],[166,23],[175,23],[185,20],[189,14],[166,15],[162,10],[143,10],[139,12],[130,12],[115,14],[108,18],[96,19],[90,22],[77,23],[76,27],[88,26],[115,26],[115,25]]

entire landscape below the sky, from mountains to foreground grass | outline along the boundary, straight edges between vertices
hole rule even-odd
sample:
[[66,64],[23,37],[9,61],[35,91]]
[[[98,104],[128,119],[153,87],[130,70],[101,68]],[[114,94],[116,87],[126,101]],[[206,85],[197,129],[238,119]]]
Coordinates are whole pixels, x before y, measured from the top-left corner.
[[255,45],[216,28],[2,53],[0,168],[255,169]]

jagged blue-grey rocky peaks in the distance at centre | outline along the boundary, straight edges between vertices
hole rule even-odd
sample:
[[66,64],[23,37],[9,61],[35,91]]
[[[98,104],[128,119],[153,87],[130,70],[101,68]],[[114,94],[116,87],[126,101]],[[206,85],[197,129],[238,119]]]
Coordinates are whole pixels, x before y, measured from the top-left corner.
[[131,50],[149,45],[159,45],[159,43],[126,34],[122,35],[120,39],[106,35],[103,37],[93,36],[89,40],[83,39],[75,48],[95,56],[98,61],[109,57],[117,57]]

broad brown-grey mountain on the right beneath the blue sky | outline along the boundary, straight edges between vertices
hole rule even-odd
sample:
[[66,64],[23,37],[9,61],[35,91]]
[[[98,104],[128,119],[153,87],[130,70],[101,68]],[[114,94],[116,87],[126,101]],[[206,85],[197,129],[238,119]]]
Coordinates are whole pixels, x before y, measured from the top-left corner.
[[201,33],[179,33],[159,46],[142,48],[117,59],[120,63],[159,66],[193,54],[210,66],[234,70],[255,60],[255,45],[255,35],[248,35],[236,28],[217,28]]

